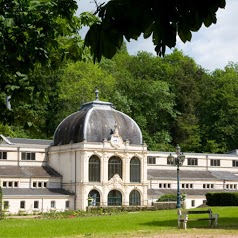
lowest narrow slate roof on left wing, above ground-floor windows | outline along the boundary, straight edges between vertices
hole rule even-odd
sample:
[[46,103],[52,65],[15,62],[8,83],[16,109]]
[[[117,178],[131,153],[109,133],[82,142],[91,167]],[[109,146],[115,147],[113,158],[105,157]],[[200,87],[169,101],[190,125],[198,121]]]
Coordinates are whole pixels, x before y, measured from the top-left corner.
[[62,196],[75,195],[62,188],[2,188],[3,196]]

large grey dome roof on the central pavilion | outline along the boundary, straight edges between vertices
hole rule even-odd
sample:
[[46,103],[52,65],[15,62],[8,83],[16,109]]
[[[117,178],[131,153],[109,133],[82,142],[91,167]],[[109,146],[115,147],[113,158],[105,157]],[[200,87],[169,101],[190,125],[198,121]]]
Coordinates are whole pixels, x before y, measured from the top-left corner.
[[115,124],[123,141],[142,144],[141,130],[132,118],[115,110],[112,103],[96,100],[83,104],[79,111],[59,124],[54,134],[54,145],[82,141],[102,142],[105,138],[110,138]]

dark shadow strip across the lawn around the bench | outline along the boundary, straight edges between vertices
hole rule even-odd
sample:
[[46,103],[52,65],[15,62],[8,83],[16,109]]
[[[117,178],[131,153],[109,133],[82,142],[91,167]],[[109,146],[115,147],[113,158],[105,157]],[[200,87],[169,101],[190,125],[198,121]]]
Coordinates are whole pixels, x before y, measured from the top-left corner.
[[[177,227],[177,220],[164,220],[164,221],[151,221],[141,223],[142,226],[161,226],[161,227]],[[238,218],[237,217],[222,217],[218,219],[217,226],[210,226],[209,221],[194,221],[188,220],[188,228],[212,228],[212,229],[224,229],[224,230],[238,230]]]

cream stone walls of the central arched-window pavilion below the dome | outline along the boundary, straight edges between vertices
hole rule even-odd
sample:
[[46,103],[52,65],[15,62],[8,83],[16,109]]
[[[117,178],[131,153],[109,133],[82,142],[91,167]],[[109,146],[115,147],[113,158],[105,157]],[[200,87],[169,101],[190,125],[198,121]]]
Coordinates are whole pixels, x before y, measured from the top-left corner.
[[[133,190],[140,194],[140,206],[147,206],[147,147],[130,145],[119,140],[102,143],[81,142],[70,145],[52,146],[49,150],[49,165],[63,175],[62,187],[76,194],[75,208],[85,210],[89,193],[98,191],[99,206],[108,206],[108,193],[117,190],[122,195],[122,206],[129,206],[129,195]],[[100,159],[100,181],[89,181],[89,159],[96,155]],[[115,174],[108,178],[108,161],[116,156],[122,160],[122,177]],[[130,160],[140,161],[140,182],[130,181]]]

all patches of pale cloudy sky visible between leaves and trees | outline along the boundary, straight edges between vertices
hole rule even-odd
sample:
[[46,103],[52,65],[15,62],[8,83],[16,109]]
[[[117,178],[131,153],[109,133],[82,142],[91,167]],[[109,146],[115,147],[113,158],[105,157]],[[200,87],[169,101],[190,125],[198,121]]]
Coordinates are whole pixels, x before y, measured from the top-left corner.
[[[107,1],[107,0],[106,0]],[[105,1],[98,1],[105,2]],[[95,4],[91,0],[78,0],[79,10],[93,11]],[[227,0],[226,8],[217,12],[217,23],[206,28],[203,26],[194,32],[191,42],[185,44],[179,39],[176,48],[193,58],[206,70],[223,69],[229,62],[238,63],[238,1]],[[137,41],[127,43],[128,52],[132,55],[138,51],[155,54],[151,39],[140,37]],[[169,54],[171,51],[167,51]],[[156,54],[155,54],[156,55]]]

